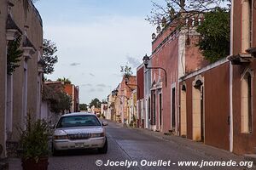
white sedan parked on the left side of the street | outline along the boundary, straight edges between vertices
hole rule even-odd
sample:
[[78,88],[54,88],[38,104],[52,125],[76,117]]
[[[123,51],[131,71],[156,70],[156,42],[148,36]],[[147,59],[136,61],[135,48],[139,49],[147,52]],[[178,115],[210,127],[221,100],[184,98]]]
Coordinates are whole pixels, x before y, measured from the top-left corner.
[[108,122],[100,122],[91,113],[71,113],[61,116],[55,127],[52,151],[57,155],[60,150],[92,149],[100,153],[108,152],[106,130]]

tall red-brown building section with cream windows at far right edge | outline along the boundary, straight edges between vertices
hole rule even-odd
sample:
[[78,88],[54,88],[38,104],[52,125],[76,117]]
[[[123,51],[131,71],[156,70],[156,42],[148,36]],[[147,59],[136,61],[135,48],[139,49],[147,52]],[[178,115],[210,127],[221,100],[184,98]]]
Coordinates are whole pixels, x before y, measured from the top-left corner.
[[231,149],[238,154],[253,153],[256,146],[255,1],[233,0],[231,28]]

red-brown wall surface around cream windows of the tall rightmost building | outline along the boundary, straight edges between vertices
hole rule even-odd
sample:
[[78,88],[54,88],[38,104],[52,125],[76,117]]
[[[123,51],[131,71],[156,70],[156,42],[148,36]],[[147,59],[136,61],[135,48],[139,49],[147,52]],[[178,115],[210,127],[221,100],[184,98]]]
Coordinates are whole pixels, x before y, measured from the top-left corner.
[[[241,0],[235,0],[234,3],[234,27],[233,27],[233,54],[241,53]],[[255,5],[255,4],[254,4]],[[253,8],[253,48],[256,47],[256,9]],[[253,130],[252,133],[241,133],[241,76],[246,69],[253,71]],[[255,78],[256,62],[255,59],[249,65],[233,65],[233,121],[234,121],[234,149],[236,154],[253,153],[256,146],[256,78]],[[255,153],[254,153],[255,154]]]

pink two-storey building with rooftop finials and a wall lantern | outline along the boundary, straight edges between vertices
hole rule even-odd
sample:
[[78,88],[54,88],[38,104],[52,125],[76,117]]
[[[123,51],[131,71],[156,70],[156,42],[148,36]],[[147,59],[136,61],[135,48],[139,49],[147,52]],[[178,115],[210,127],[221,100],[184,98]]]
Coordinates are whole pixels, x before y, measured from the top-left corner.
[[[162,30],[158,26],[158,35],[152,35],[150,65],[145,68],[144,77],[147,81],[145,88],[148,89],[150,86],[150,98],[146,97],[145,100],[147,105],[145,115],[148,116],[150,128],[153,130],[179,133],[178,79],[207,65],[207,61],[203,59],[196,46],[200,35],[195,31],[195,26],[201,20],[201,18],[191,18],[187,20],[186,28],[181,29],[176,29],[176,25],[172,23]],[[148,70],[151,70],[150,79],[148,79]],[[145,94],[148,94],[146,89]]]

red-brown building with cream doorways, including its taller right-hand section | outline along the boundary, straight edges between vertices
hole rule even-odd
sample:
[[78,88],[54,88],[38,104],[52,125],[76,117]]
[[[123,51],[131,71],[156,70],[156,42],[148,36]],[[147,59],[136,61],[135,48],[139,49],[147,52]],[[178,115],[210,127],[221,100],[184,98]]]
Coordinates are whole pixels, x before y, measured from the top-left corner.
[[256,146],[254,6],[232,1],[230,56],[179,83],[181,135],[236,154],[251,154]]

